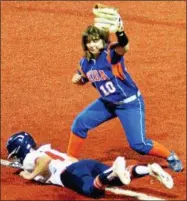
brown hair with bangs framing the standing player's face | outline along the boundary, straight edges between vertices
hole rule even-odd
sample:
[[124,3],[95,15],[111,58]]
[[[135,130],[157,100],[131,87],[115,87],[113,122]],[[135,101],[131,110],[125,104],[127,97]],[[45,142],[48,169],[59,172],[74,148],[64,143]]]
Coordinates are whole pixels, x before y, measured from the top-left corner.
[[86,44],[91,40],[102,39],[103,41],[103,49],[107,46],[109,42],[109,31],[108,29],[99,29],[94,25],[90,25],[87,27],[85,32],[82,34],[82,48],[84,51],[84,56],[90,60],[93,55],[89,52]]

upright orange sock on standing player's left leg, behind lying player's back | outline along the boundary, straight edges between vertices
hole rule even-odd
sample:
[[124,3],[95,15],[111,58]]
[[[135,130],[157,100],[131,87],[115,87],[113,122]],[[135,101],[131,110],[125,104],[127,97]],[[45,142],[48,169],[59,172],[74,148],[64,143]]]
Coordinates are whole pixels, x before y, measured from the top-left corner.
[[83,142],[84,138],[81,138],[71,132],[68,143],[67,155],[78,158],[80,156],[80,150],[83,145]]

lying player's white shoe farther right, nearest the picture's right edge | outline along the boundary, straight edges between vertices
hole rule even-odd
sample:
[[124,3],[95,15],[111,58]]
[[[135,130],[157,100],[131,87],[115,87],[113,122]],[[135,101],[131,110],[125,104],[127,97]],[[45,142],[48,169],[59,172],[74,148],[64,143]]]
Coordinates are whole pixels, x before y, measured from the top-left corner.
[[159,180],[166,188],[173,188],[173,178],[157,163],[149,164],[149,174]]

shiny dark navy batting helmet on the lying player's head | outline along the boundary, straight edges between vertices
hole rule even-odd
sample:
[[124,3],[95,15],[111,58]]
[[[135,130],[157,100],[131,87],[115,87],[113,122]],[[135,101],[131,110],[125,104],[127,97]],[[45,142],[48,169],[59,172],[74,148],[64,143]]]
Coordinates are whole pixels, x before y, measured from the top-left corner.
[[22,163],[31,148],[35,148],[36,143],[29,133],[24,131],[13,134],[7,141],[8,159],[15,157]]

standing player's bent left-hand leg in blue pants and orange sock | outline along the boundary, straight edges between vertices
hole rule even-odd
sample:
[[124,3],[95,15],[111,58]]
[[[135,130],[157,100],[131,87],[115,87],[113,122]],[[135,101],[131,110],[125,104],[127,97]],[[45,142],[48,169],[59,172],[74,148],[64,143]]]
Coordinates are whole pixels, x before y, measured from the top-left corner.
[[114,117],[113,111],[100,98],[91,103],[73,122],[67,154],[79,157],[80,149],[88,131]]

